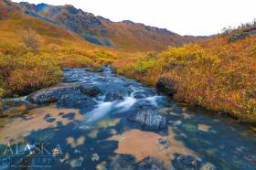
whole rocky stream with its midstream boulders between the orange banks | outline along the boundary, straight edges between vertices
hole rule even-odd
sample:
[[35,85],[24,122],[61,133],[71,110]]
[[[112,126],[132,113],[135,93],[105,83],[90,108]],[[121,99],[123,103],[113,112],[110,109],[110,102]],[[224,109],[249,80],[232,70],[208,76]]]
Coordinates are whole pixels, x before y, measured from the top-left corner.
[[[154,88],[112,74],[108,67],[102,72],[65,69],[57,87],[73,89],[65,90],[57,101],[52,97],[62,91],[50,92],[51,88],[30,98],[5,101],[4,114],[10,116],[0,118],[1,149],[8,141],[40,140],[50,142],[52,148],[59,143],[63,155],[50,164],[53,169],[255,166],[253,127],[173,101]],[[34,101],[27,101],[32,97]],[[3,167],[8,169],[8,165]]]

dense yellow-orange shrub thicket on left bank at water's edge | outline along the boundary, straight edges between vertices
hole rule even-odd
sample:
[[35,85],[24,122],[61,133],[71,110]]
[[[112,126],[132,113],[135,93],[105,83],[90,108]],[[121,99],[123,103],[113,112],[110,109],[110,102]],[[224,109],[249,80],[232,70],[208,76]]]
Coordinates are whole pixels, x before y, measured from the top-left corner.
[[48,87],[61,78],[61,70],[56,62],[33,53],[20,57],[1,56],[0,73],[0,87],[16,94]]

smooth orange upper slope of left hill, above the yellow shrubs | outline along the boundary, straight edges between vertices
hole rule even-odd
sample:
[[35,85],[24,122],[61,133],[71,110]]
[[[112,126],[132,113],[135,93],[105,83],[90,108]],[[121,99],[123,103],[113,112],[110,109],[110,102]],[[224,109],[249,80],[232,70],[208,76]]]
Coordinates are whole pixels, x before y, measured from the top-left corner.
[[0,1],[0,38],[1,44],[16,46],[21,43],[22,36],[28,29],[37,32],[43,39],[42,47],[55,44],[65,48],[66,46],[107,50],[107,48],[95,46],[77,34],[55,25],[49,24],[33,16],[24,14],[22,8],[9,0]]

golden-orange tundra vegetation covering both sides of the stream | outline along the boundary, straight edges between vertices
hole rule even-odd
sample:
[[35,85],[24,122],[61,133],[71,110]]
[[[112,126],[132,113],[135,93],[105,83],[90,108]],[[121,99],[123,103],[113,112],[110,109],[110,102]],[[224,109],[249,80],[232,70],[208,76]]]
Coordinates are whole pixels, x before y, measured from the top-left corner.
[[256,122],[255,29],[253,22],[161,53],[135,53],[92,45],[67,30],[13,12],[0,25],[0,96],[54,85],[61,79],[61,68],[112,64],[117,73],[148,85],[165,80],[178,101]]

